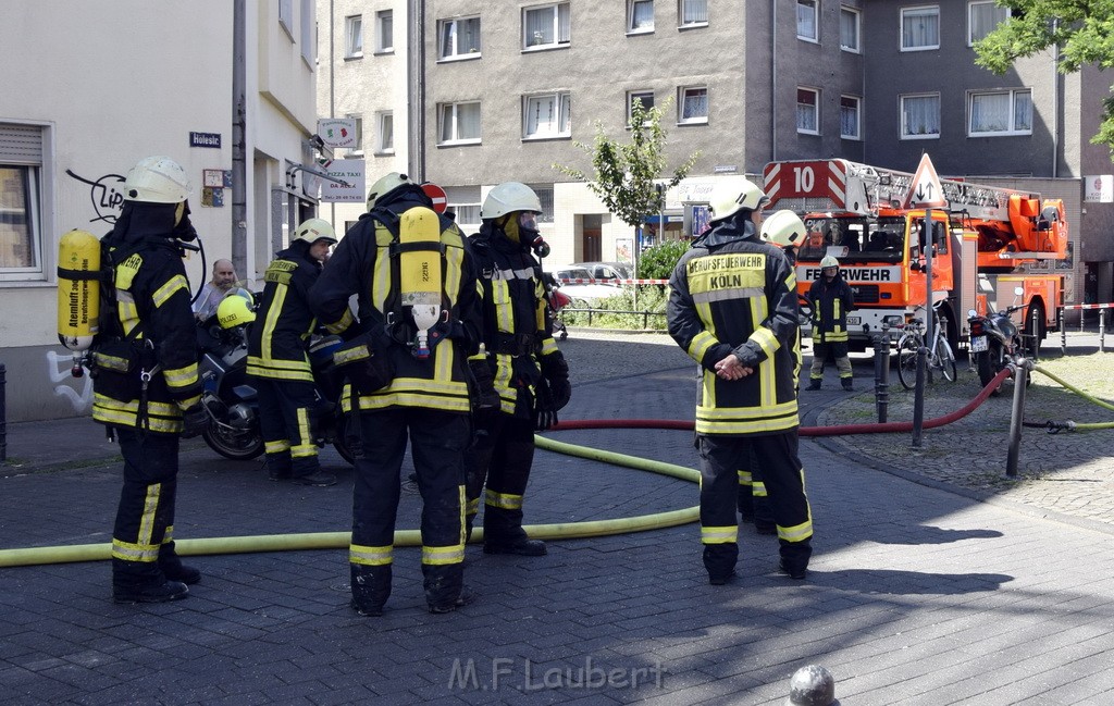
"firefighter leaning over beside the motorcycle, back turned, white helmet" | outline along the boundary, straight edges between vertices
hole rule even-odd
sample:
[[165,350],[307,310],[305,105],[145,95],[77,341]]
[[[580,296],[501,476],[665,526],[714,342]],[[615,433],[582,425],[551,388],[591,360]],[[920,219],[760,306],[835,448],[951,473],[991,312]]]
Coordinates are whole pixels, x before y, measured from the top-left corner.
[[247,334],[247,374],[260,399],[260,431],[267,478],[325,488],[336,475],[317,460],[316,421],[328,405],[317,392],[310,364],[310,336],[317,322],[310,311],[310,287],[317,281],[333,227],[321,218],[303,222],[290,247],[280,252],[263,275],[266,285],[255,323]]

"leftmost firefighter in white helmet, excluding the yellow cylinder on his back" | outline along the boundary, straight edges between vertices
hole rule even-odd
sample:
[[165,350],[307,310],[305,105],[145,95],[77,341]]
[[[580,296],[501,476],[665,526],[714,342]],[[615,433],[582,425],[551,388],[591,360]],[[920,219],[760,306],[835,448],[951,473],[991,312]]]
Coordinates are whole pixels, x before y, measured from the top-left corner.
[[[164,602],[185,598],[201,571],[174,548],[178,434],[208,422],[201,406],[194,315],[178,242],[189,223],[189,179],[169,157],[147,157],[128,171],[111,233],[114,290],[94,349],[94,420],[115,433],[124,488],[113,528],[113,598]],[[109,285],[111,286],[111,285]]]

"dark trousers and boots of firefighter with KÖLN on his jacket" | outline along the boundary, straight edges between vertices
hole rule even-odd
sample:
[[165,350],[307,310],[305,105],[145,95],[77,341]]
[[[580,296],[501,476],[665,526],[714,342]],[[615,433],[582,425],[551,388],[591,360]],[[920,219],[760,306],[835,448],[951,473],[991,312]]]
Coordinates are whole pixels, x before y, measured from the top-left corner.
[[[792,528],[810,522],[809,500],[804,494],[801,460],[798,457],[797,430],[769,437],[698,438],[701,455],[701,527],[737,529],[735,509],[739,498],[739,469],[746,468],[752,454],[761,459],[762,480],[770,499],[774,522]],[[805,567],[812,555],[808,538],[801,541],[779,539],[779,551],[786,565]],[[730,573],[739,558],[739,542],[704,545],[704,567],[710,576]]]

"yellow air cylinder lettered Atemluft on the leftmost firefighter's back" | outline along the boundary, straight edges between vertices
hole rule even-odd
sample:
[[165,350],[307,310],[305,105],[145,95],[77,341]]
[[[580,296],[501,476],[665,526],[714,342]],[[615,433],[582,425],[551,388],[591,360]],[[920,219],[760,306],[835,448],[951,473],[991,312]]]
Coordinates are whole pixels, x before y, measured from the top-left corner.
[[100,241],[70,231],[58,241],[58,341],[74,351],[75,377],[92,345],[100,317]]

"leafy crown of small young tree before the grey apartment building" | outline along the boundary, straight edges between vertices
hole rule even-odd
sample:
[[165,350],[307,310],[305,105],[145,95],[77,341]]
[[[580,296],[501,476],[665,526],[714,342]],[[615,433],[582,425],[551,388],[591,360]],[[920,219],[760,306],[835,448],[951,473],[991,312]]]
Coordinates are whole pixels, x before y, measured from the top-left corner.
[[[596,120],[593,144],[574,143],[592,157],[594,176],[559,164],[554,164],[553,168],[574,179],[586,182],[588,188],[607,206],[607,210],[631,227],[641,228],[646,216],[662,208],[665,198],[665,189],[656,189],[655,179],[661,178],[666,169],[663,149],[666,134],[662,128],[662,114],[670,102],[667,100],[662,108],[647,110],[636,99],[627,126],[631,138],[628,143],[607,137],[603,124]],[[680,184],[698,156],[700,153],[694,153],[674,169],[665,182],[665,188]]]

